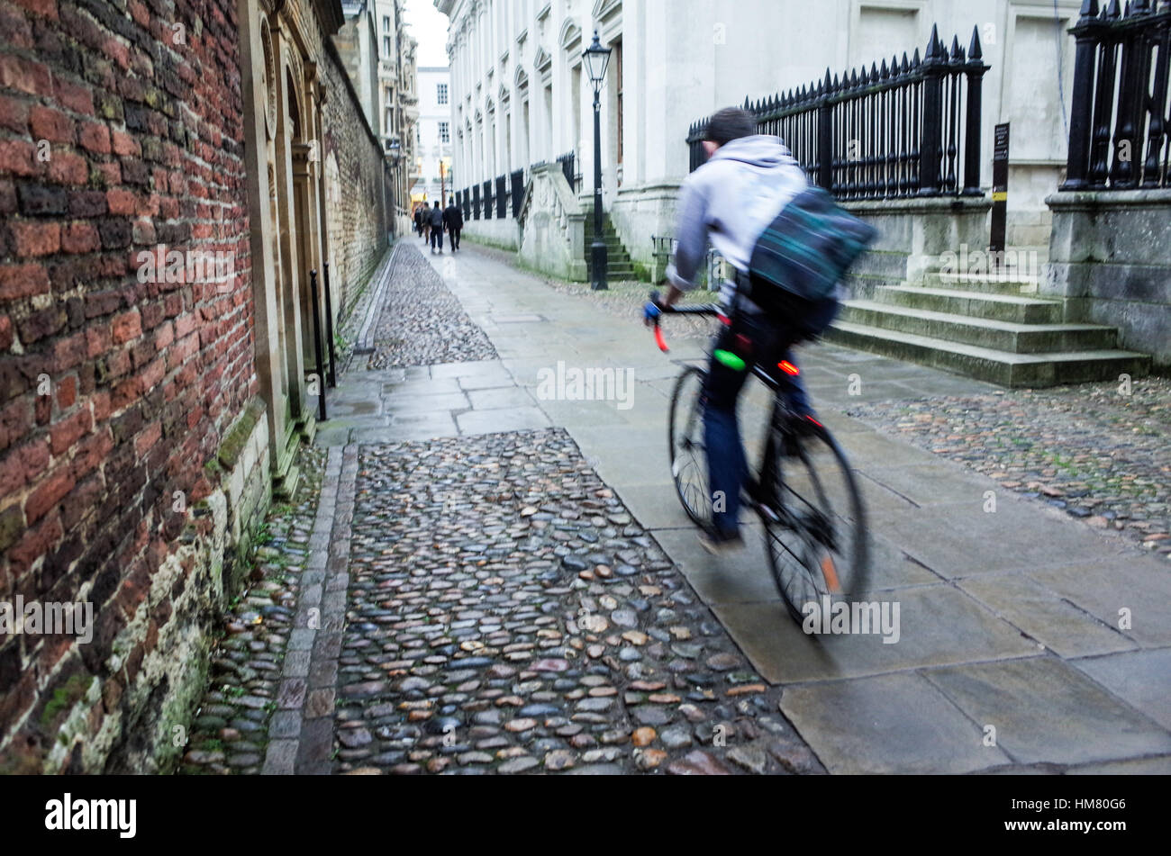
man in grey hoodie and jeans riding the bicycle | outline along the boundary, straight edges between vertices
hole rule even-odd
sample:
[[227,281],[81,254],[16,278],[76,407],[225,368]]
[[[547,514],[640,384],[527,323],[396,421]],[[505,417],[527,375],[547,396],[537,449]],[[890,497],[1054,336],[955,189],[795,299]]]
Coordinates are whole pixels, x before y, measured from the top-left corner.
[[[707,163],[689,175],[679,188],[678,246],[666,277],[671,288],[660,304],[648,304],[655,315],[696,287],[696,274],[707,253],[707,241],[735,269],[734,282],[725,282],[720,302],[728,322],[720,331],[704,386],[704,446],[712,491],[712,527],[699,538],[711,553],[742,545],[739,531],[740,489],[748,463],[737,422],[737,399],[754,363],[775,366],[793,363],[789,345],[807,326],[824,327],[836,312],[836,301],[816,304],[817,318],[781,318],[766,315],[745,294],[748,261],[765,228],[808,181],[801,165],[779,137],[756,133],[756,120],[740,108],[712,116],[706,139]],[[778,372],[789,406],[813,415],[800,375]]]

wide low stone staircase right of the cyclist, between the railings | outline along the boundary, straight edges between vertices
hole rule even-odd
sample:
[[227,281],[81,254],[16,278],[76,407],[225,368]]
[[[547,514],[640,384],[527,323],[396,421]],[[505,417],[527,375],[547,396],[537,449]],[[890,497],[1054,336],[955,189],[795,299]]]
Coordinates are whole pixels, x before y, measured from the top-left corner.
[[1036,276],[936,272],[844,301],[826,338],[1006,387],[1139,377],[1150,357],[1118,350],[1116,327],[1062,320]]

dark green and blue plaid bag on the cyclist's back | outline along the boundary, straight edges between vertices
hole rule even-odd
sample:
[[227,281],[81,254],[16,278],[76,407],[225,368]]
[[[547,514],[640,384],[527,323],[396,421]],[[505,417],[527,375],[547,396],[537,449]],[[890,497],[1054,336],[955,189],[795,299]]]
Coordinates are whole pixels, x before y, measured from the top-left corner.
[[756,239],[747,296],[769,315],[803,318],[813,304],[833,299],[834,287],[877,234],[829,193],[809,187]]

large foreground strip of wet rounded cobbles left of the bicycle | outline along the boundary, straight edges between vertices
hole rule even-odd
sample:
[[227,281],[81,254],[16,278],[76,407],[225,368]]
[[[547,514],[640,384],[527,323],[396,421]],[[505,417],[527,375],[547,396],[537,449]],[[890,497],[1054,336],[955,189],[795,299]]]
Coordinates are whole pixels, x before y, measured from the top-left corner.
[[364,447],[349,571],[337,772],[823,772],[564,430]]

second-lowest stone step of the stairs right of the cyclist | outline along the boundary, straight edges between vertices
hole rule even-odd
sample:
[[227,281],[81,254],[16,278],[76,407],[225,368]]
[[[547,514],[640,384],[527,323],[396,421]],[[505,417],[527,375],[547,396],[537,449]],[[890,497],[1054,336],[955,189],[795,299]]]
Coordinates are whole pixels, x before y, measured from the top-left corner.
[[843,322],[1009,353],[1109,351],[1118,343],[1116,327],[1100,324],[1014,324],[946,312],[893,306],[875,301],[844,301]]

